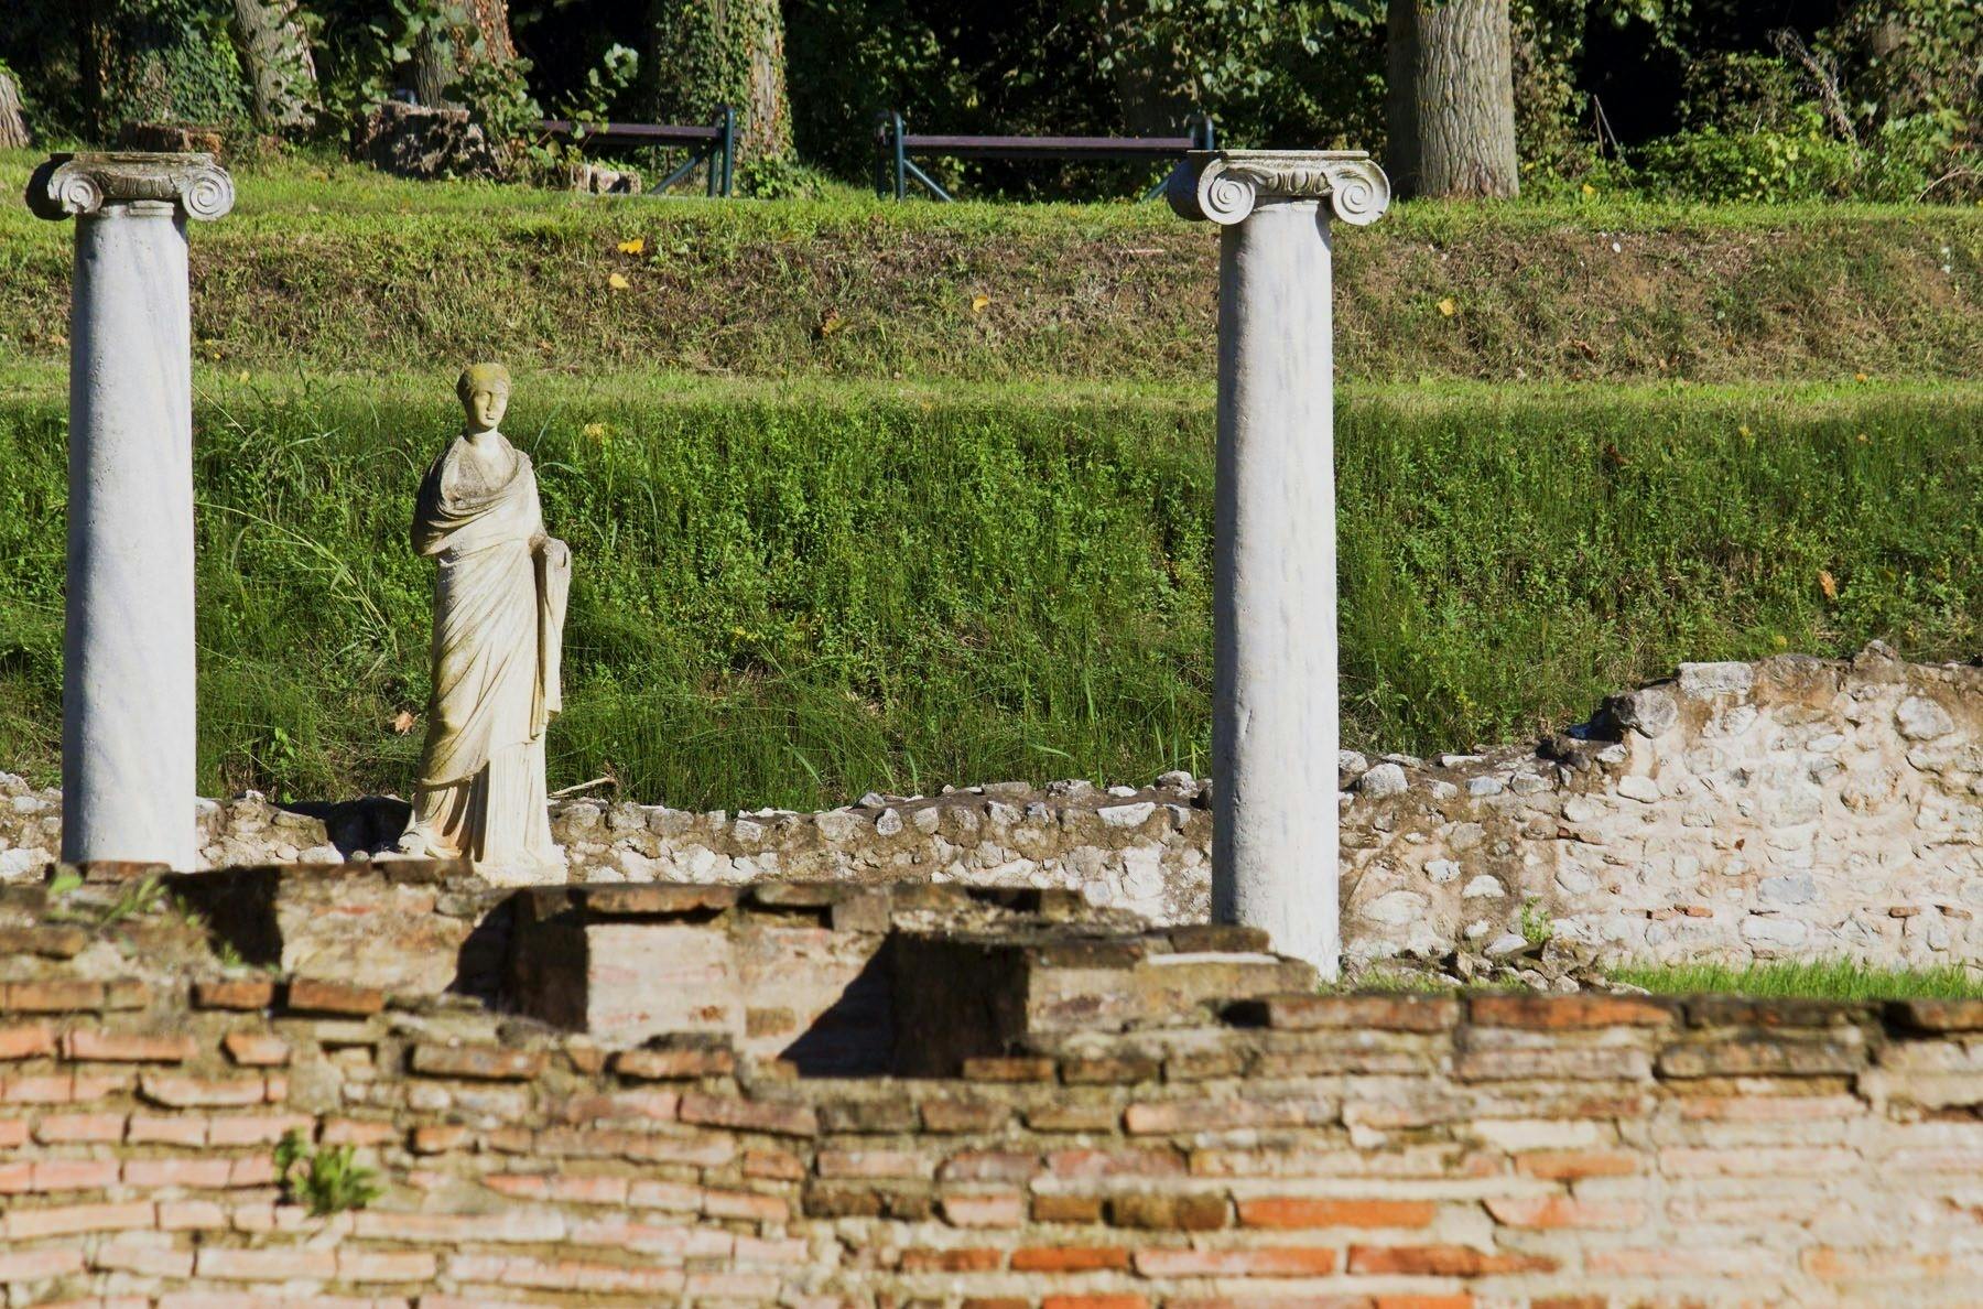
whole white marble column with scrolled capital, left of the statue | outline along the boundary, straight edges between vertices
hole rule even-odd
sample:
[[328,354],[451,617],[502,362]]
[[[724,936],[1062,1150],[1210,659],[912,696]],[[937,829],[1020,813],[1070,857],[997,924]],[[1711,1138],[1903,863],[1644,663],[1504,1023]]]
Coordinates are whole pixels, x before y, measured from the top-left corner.
[[61,857],[194,861],[192,323],[186,216],[210,155],[56,155],[28,182],[75,216]]

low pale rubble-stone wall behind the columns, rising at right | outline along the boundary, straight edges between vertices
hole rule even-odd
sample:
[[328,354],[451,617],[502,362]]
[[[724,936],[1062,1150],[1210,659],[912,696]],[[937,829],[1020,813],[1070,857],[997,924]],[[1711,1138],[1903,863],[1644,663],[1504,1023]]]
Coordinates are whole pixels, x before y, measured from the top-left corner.
[[[1983,962],[1983,668],[1779,656],[1684,664],[1539,748],[1344,752],[1352,966],[1513,952],[1527,928],[1602,960]],[[212,865],[335,863],[395,801],[325,817],[202,801]],[[399,815],[405,809],[397,809]],[[571,879],[958,881],[1081,891],[1158,924],[1210,908],[1210,783],[992,783],[825,813],[565,799]],[[0,775],[0,881],[40,877],[59,795]]]

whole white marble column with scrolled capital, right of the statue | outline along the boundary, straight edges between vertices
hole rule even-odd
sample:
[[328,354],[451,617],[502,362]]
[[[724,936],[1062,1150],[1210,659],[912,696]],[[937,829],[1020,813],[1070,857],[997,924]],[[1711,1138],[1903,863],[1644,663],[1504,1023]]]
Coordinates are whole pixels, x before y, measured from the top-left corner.
[[1362,151],[1192,151],[1220,232],[1212,916],[1337,976],[1337,484],[1329,210],[1376,222]]

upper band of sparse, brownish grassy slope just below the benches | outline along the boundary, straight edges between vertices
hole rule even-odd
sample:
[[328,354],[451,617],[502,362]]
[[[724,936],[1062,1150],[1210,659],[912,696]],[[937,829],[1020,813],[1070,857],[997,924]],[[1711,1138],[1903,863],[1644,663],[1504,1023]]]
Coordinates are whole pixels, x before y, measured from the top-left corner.
[[[0,190],[32,159],[0,155]],[[311,165],[238,180],[236,214],[194,234],[198,349],[230,367],[496,355],[1162,383],[1214,367],[1216,236],[1156,204],[579,198]],[[1983,373],[1983,210],[1406,204],[1342,230],[1337,256],[1346,377]],[[0,206],[0,361],[61,357],[65,286],[67,232]]]

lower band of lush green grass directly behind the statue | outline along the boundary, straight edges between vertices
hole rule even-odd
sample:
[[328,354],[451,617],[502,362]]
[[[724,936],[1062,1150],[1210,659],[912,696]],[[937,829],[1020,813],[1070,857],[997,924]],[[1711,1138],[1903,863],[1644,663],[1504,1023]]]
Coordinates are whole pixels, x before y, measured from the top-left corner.
[[[50,777],[63,413],[0,371],[0,760]],[[202,371],[200,785],[410,781],[450,377]],[[1204,389],[518,377],[577,557],[553,785],[676,805],[1206,768]],[[1979,647],[1977,387],[1346,387],[1346,744],[1582,718],[1684,658]],[[1836,579],[1826,599],[1818,573]]]

